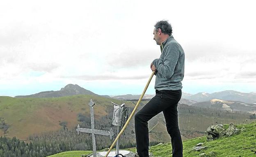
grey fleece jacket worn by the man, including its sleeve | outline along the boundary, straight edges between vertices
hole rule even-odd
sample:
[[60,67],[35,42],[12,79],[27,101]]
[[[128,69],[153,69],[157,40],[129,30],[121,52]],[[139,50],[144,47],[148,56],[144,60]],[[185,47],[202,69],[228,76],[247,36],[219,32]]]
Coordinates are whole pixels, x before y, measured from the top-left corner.
[[155,89],[178,90],[182,88],[185,54],[181,45],[171,35],[162,42],[161,55],[153,61],[156,67]]

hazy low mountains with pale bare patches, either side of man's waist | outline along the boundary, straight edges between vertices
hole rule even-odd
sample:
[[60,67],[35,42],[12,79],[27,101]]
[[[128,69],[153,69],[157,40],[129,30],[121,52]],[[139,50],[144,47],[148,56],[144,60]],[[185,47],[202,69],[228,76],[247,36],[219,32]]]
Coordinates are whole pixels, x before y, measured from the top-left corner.
[[[256,103],[244,103],[244,102],[250,102],[248,100],[253,100],[255,97],[248,97],[248,95],[251,93],[241,93],[237,91],[222,91],[218,93],[198,93],[195,95],[185,93],[183,94],[183,98],[179,101],[179,104],[187,104],[190,106],[197,106],[201,108],[215,108],[220,111],[242,111],[242,112],[249,112],[249,113],[256,113]],[[216,95],[216,97],[214,97]],[[239,95],[239,97],[235,97]],[[151,99],[155,95],[144,95],[144,99]],[[244,97],[243,97],[244,96]],[[118,95],[118,96],[112,96],[114,99],[118,100],[138,100],[140,95]],[[186,99],[185,99],[185,98]],[[219,99],[218,97],[224,97],[225,99]],[[240,98],[240,99],[239,99]],[[251,99],[249,99],[251,98]],[[194,101],[197,100],[197,101]],[[238,100],[238,101],[235,101]],[[242,102],[244,101],[244,102]],[[256,102],[256,101],[255,101]]]

